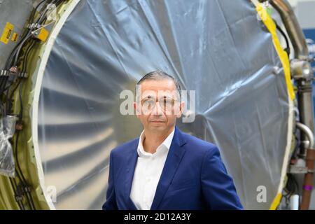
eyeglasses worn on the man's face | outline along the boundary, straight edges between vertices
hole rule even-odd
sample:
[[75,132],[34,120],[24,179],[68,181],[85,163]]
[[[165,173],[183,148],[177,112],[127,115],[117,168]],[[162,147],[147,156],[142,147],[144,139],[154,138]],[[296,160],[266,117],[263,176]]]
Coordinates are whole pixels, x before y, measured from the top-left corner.
[[156,102],[159,102],[160,107],[163,111],[172,111],[176,100],[170,97],[163,97],[161,99],[154,99],[150,96],[141,100],[141,106],[144,111],[152,111],[155,108]]

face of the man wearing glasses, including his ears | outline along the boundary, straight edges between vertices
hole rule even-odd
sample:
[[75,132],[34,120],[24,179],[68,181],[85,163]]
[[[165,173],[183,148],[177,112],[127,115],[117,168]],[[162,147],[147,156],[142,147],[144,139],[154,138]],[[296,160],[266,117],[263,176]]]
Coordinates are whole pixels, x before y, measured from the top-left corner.
[[139,98],[134,102],[137,117],[144,129],[151,132],[168,132],[180,118],[183,102],[171,79],[144,80],[139,90]]

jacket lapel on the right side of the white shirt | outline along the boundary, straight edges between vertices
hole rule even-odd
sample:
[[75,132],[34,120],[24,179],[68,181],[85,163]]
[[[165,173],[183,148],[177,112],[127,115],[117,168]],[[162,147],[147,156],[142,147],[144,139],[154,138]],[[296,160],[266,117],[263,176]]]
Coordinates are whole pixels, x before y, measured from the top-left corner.
[[167,154],[167,159],[160,176],[160,181],[155,191],[155,197],[151,206],[151,210],[158,208],[160,202],[162,201],[171,181],[174,177],[176,169],[179,167],[181,158],[185,153],[185,149],[182,147],[186,142],[184,141],[181,131],[175,127],[174,137],[172,144],[169,148],[169,153]]

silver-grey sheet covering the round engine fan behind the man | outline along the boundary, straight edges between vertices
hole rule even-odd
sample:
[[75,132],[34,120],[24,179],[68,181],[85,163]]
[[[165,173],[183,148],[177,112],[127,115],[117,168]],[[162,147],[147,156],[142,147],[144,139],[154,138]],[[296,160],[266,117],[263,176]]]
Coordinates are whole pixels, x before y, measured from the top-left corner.
[[[56,208],[101,209],[111,149],[142,130],[135,116],[120,114],[120,92],[161,69],[195,90],[195,121],[178,126],[218,145],[245,209],[268,209],[290,141],[276,66],[272,36],[250,1],[80,1],[57,36],[39,102],[45,185],[57,188]],[[266,203],[256,200],[258,186]]]

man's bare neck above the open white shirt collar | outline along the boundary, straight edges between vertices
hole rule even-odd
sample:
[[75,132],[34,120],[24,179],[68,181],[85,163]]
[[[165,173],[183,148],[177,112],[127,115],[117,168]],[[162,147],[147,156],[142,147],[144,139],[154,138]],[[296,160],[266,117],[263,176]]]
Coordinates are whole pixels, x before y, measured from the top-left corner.
[[155,153],[156,149],[163,141],[171,134],[174,130],[174,127],[170,129],[168,132],[148,132],[148,130],[144,130],[144,142],[142,145],[144,146],[144,151],[147,153]]

